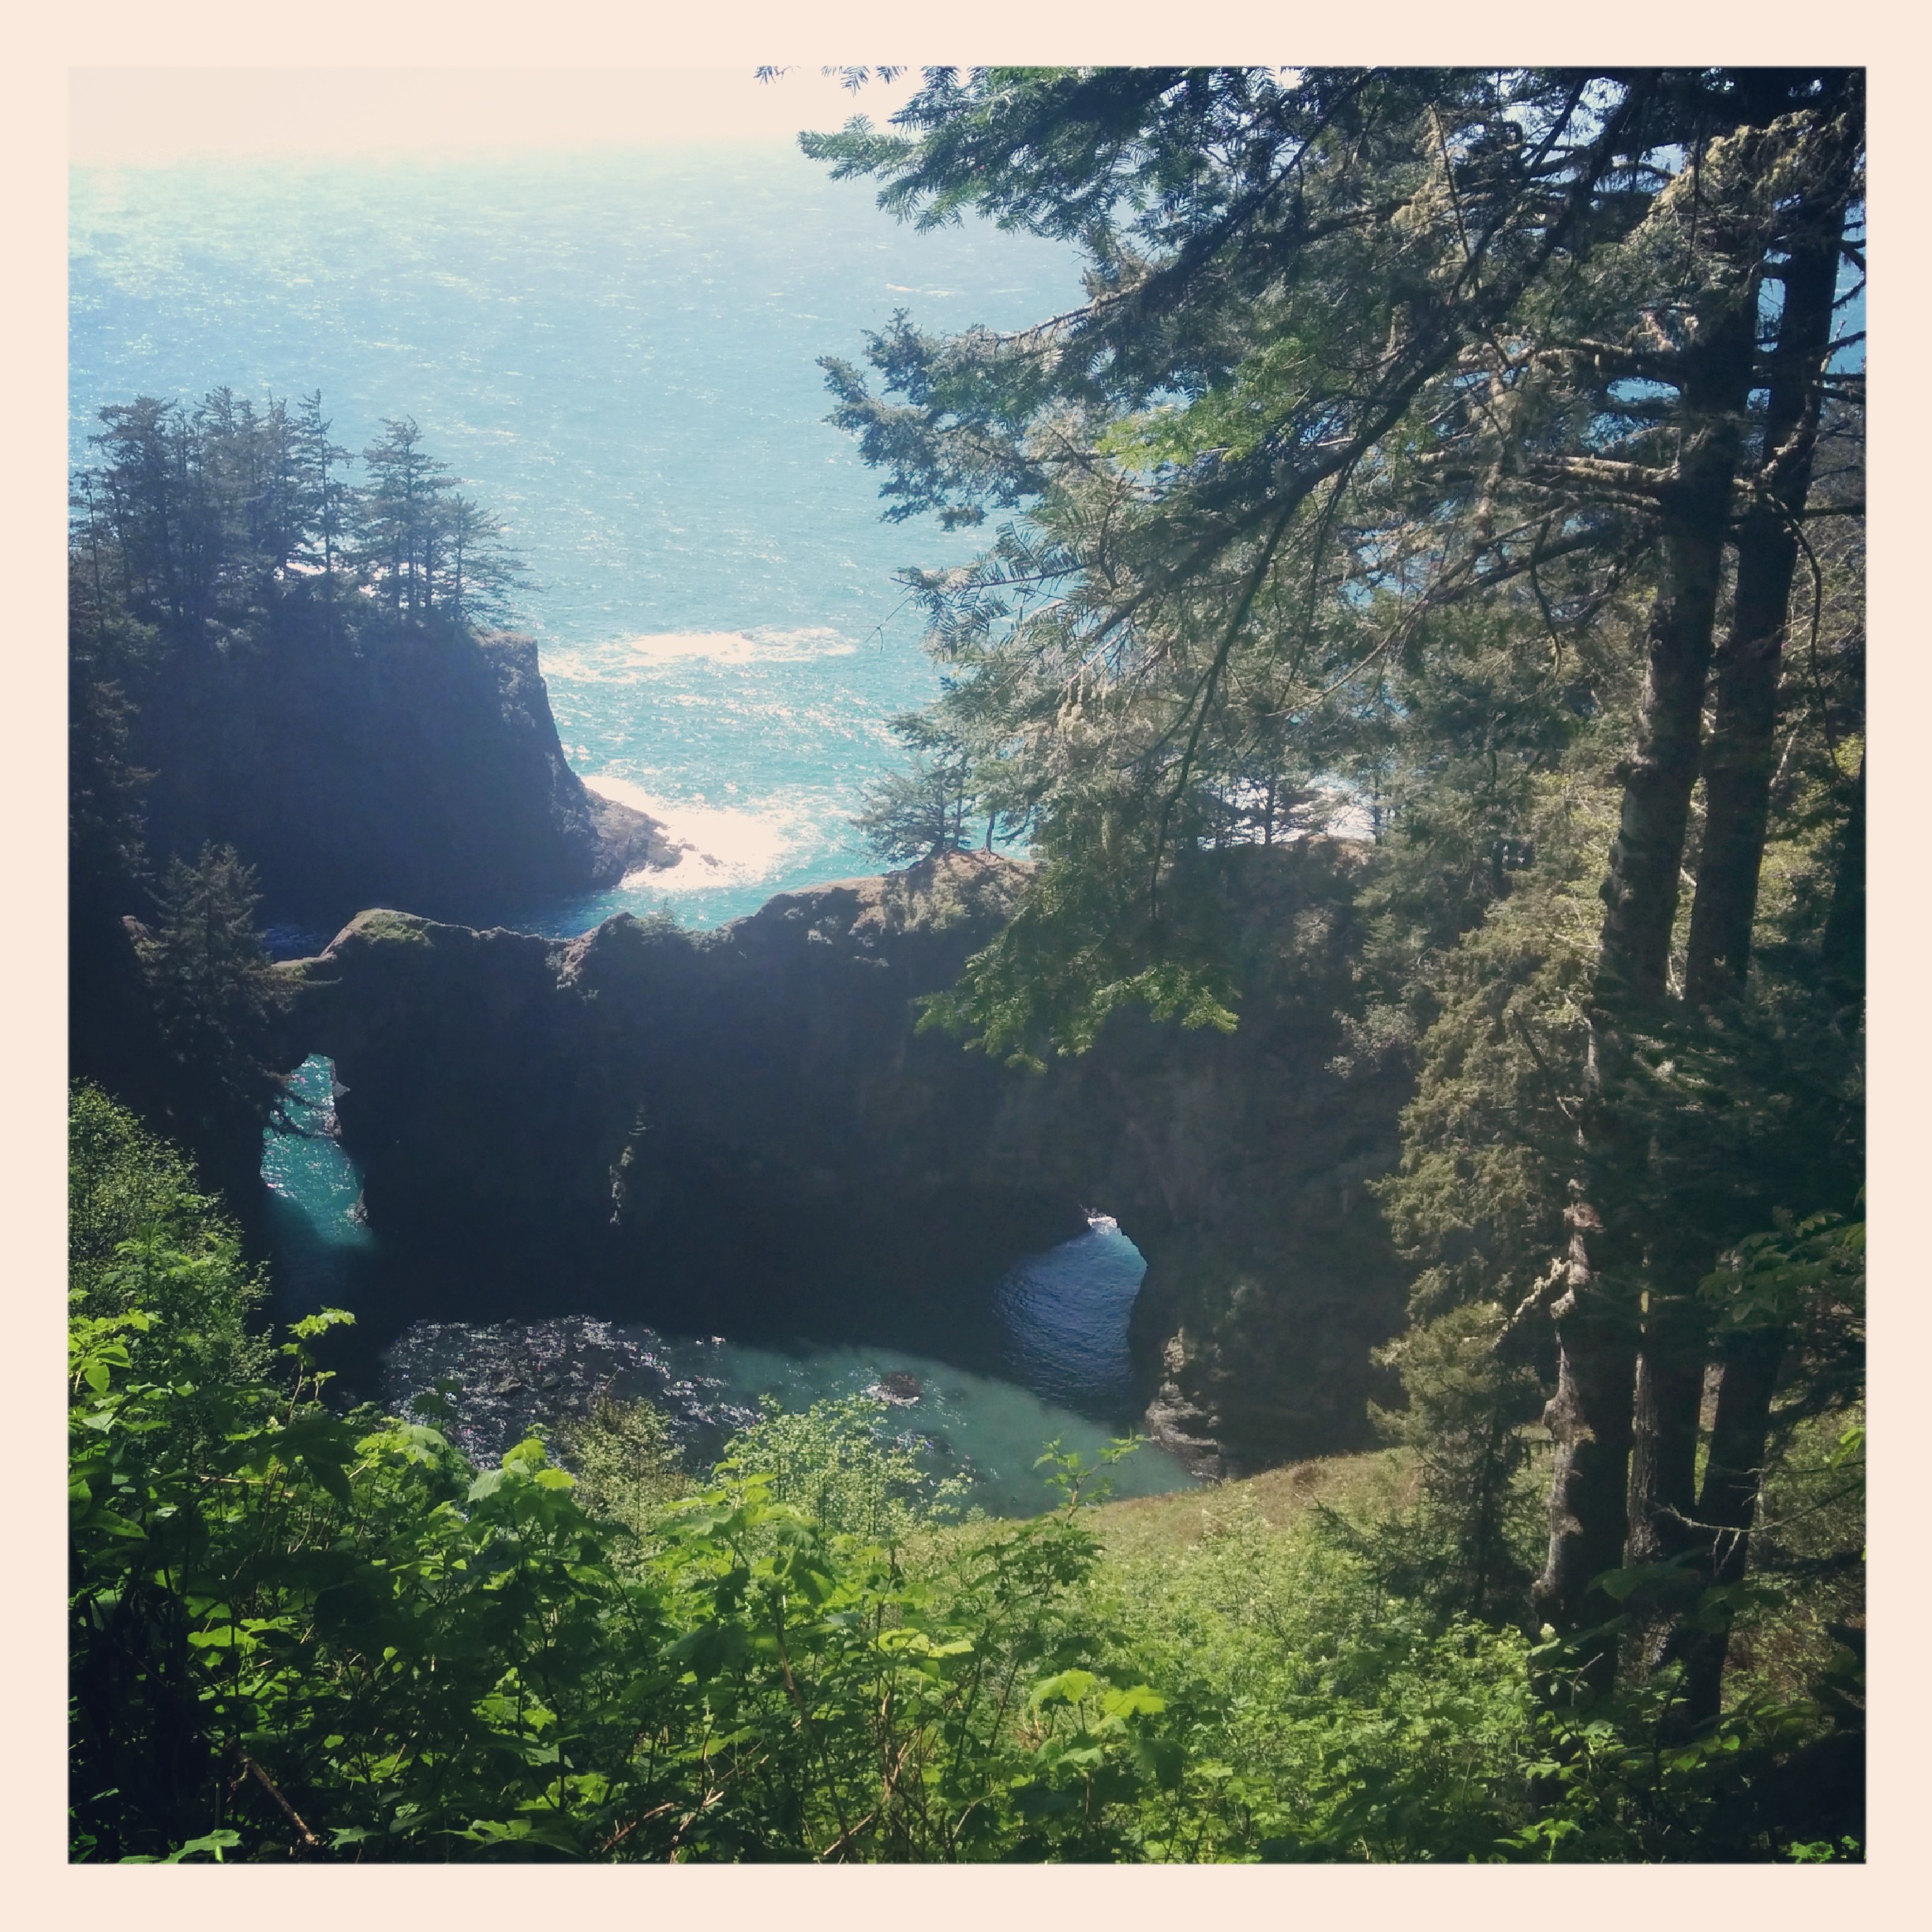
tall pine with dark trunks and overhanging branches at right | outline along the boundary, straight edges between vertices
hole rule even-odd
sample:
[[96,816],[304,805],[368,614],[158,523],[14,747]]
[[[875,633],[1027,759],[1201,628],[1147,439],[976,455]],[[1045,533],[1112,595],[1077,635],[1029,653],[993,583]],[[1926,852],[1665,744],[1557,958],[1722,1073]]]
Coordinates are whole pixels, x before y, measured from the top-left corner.
[[[827,361],[889,516],[1020,512],[976,564],[910,574],[952,672],[939,719],[1003,771],[1047,860],[949,1003],[981,1043],[1080,1045],[1136,987],[1184,1007],[1177,976],[1227,1010],[1184,893],[1262,721],[1287,721],[1291,779],[1381,837],[1387,759],[1414,738],[1397,686],[1453,645],[1447,612],[1532,620],[1551,680],[1636,616],[1633,676],[1582,690],[1623,707],[1604,724],[1623,755],[1602,734],[1590,753],[1607,837],[1571,840],[1577,869],[1524,900],[1559,927],[1505,922],[1530,983],[1567,962],[1559,999],[1509,1014],[1499,1063],[1561,1122],[1528,1155],[1559,1260],[1538,1273],[1557,1343],[1538,1602],[1567,1633],[1613,1621],[1602,1578],[1627,1540],[1665,1549],[1690,1507],[1690,1289],[1747,1213],[1762,1225],[1774,1177],[1830,1194],[1855,1146],[1843,1078],[1808,1072],[1845,1024],[1806,1018],[1804,972],[1748,1016],[1708,989],[1741,983],[1762,914],[1791,556],[1859,510],[1822,500],[1810,464],[1828,410],[1861,400],[1832,321],[1841,265],[1862,270],[1861,77],[931,70],[893,129],[806,147],[902,216],[974,207],[1090,263],[1084,303],[1016,334],[896,315],[869,342],[877,394]],[[1493,732],[1486,753],[1497,773]],[[1439,808],[1441,782],[1403,810]],[[1451,817],[1470,827],[1474,800]],[[1451,927],[1546,856],[1513,811]],[[1049,960],[1086,962],[1086,985],[1049,987]],[[1497,1041],[1472,1045],[1480,1084]],[[1808,1169],[1785,1161],[1799,1122],[1824,1134]],[[1600,1644],[1596,1683],[1613,1662]]]

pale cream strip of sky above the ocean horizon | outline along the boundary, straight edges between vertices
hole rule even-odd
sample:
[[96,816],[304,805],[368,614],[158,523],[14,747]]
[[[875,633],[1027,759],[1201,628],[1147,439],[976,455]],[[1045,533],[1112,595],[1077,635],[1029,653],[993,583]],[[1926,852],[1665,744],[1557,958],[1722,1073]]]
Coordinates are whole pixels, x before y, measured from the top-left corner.
[[916,70],[858,95],[817,68],[75,68],[68,156],[383,156],[788,143],[854,114],[883,122]]

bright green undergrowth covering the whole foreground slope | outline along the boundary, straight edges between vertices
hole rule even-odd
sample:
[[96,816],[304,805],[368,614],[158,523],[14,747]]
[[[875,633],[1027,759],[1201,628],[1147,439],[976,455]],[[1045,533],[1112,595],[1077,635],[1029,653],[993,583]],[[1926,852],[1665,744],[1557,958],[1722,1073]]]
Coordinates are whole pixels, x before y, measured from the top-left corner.
[[1047,1447],[1024,1522],[867,1403],[705,1474],[605,1401],[475,1468],[435,1399],[330,1405],[344,1316],[270,1347],[218,1204],[99,1095],[73,1200],[77,1861],[1857,1855],[1806,1797],[1862,1748],[1804,1582],[1849,1439],[1774,1488],[1762,1681],[1663,1743],[1667,1685],[1567,1700],[1559,1646],[1418,1582],[1406,1449],[1115,1503]]

